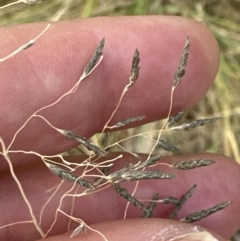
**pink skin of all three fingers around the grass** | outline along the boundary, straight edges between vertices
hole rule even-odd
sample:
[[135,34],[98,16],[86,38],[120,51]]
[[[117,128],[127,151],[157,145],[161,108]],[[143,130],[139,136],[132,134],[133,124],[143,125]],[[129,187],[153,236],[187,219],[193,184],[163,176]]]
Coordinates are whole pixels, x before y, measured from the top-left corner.
[[[5,36],[0,41],[1,56],[8,55],[21,44],[35,38],[45,26],[45,23],[38,23],[0,29],[0,36]],[[141,58],[139,79],[124,97],[111,123],[129,116],[147,116],[138,124],[166,117],[173,75],[187,36],[191,39],[191,51],[186,76],[174,93],[173,113],[197,104],[211,87],[218,71],[217,42],[204,24],[178,17],[95,18],[54,23],[36,45],[0,65],[2,139],[8,145],[13,134],[34,111],[53,102],[76,83],[103,37],[106,46],[100,66],[88,80],[81,83],[75,94],[42,111],[41,115],[57,128],[73,130],[86,137],[100,132],[128,81],[132,54],[137,47]],[[35,118],[25,127],[25,131],[20,132],[11,149],[53,155],[75,145],[75,142],[56,133],[41,119]],[[34,155],[11,154],[10,157],[34,212],[39,214],[51,195],[46,190],[57,185],[59,179],[50,175],[46,166]],[[238,164],[228,157],[206,153],[165,158],[162,161],[173,163],[183,158],[213,158],[217,163],[188,172],[160,166],[163,171],[175,173],[177,178],[161,182],[143,181],[136,196],[151,199],[156,192],[160,192],[161,197],[173,194],[180,197],[196,183],[197,191],[176,218],[231,200],[233,204],[230,207],[196,224],[220,235],[222,238],[219,240],[230,238],[240,223]],[[69,161],[81,160],[70,158]],[[116,162],[114,168],[134,161],[132,156],[126,154],[121,161]],[[0,170],[0,226],[30,220],[28,209],[2,157]],[[122,186],[130,191],[134,188],[133,183]],[[60,197],[69,187],[71,184],[65,182],[46,207],[43,215],[44,231],[53,222],[53,210],[56,210]],[[66,198],[62,209],[70,213],[71,206],[71,199]],[[108,188],[76,199],[73,215],[104,233],[109,240],[169,240],[174,237],[175,240],[181,240],[177,239],[179,235],[196,230],[192,225],[163,219],[172,210],[171,206],[157,205],[154,218],[148,220],[140,219],[141,212],[130,206],[127,218],[131,219],[121,220],[125,207],[126,201]],[[59,214],[48,239],[68,240],[71,233],[67,233],[67,226],[68,219]],[[204,240],[197,235],[189,235],[184,240]],[[32,224],[0,229],[1,240],[28,241],[39,238]],[[75,237],[75,240],[98,239],[103,240],[90,231],[87,234],[81,232]]]

